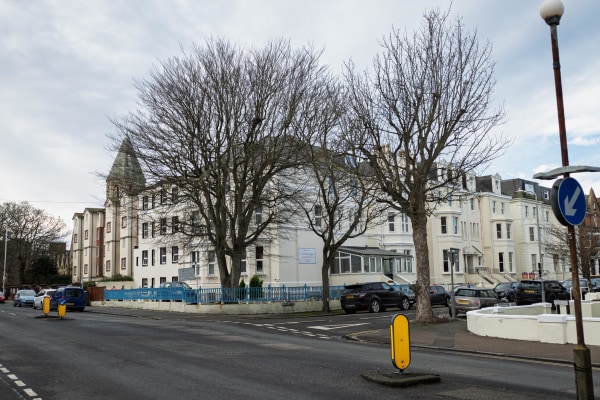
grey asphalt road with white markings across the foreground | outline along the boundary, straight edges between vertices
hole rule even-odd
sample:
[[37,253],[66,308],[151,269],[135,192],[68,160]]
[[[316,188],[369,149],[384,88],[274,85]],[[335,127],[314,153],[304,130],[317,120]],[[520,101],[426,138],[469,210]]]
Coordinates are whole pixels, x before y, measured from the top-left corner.
[[[411,372],[442,383],[399,389],[364,380],[393,371],[386,346],[342,333],[392,313],[241,317],[135,311],[68,313],[0,306],[0,398],[22,399],[559,399],[572,367],[413,351]],[[594,381],[600,373],[594,371]]]

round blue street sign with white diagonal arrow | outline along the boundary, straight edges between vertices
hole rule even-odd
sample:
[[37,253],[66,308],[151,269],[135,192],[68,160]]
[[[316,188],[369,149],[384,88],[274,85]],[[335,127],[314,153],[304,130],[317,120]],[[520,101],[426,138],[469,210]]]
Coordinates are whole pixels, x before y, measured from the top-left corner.
[[563,225],[579,225],[585,219],[585,194],[574,178],[558,179],[550,193],[552,211]]

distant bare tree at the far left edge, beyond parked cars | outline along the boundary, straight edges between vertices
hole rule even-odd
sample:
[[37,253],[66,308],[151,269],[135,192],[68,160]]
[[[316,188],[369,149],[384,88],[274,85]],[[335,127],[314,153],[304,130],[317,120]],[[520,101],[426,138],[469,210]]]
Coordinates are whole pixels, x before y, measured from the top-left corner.
[[25,283],[32,262],[49,254],[51,243],[64,240],[67,227],[63,221],[27,202],[0,205],[2,239],[8,231],[7,280],[9,285]]

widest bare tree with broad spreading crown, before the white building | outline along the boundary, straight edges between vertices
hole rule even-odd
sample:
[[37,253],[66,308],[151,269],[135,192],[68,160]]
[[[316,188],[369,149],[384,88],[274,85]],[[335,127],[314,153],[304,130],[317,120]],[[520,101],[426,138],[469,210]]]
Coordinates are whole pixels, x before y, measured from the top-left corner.
[[149,185],[179,188],[193,210],[185,233],[214,247],[224,287],[238,285],[246,248],[293,212],[285,183],[327,79],[319,56],[286,41],[245,49],[210,39],[137,82],[140,109],[115,121]]

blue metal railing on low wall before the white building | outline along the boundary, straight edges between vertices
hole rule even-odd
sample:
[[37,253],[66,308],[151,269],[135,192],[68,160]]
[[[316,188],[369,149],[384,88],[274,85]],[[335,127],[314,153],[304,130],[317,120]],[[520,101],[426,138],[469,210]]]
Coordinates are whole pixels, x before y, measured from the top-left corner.
[[[340,298],[344,286],[330,286],[329,298]],[[245,287],[245,288],[211,288],[185,289],[170,288],[138,288],[112,289],[104,291],[106,301],[181,301],[189,304],[202,303],[265,303],[322,300],[321,286],[280,286],[280,287]]]

